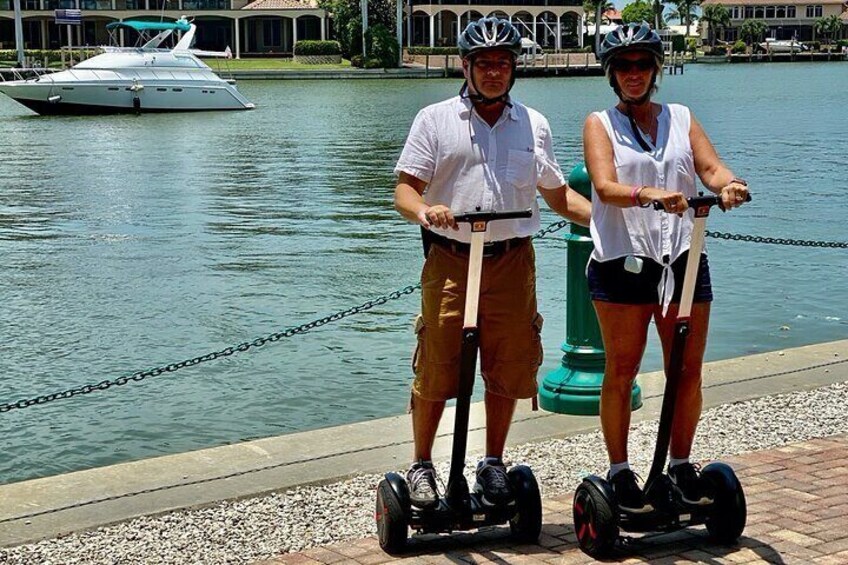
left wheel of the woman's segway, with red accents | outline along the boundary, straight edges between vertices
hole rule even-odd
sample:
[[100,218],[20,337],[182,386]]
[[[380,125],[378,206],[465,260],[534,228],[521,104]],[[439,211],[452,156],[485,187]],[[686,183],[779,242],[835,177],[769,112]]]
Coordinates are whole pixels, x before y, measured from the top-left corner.
[[595,559],[608,557],[618,540],[618,521],[610,498],[589,479],[583,479],[574,493],[573,511],[580,549]]

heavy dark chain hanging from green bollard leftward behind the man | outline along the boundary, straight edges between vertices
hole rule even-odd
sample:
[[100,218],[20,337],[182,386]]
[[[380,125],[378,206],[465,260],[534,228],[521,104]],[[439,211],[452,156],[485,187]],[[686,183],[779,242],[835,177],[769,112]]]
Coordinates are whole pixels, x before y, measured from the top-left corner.
[[[558,222],[554,222],[546,228],[539,230],[536,235],[533,236],[534,239],[538,239],[541,237],[545,237],[546,235],[552,234],[556,231],[561,230],[565,226],[567,226],[569,222],[567,220],[560,220]],[[206,355],[201,355],[199,357],[194,357],[192,359],[186,359],[185,361],[180,361],[179,363],[170,363],[168,365],[163,365],[161,367],[156,367],[155,369],[147,369],[146,371],[137,371],[132,375],[126,375],[123,377],[118,377],[114,380],[105,380],[100,381],[97,384],[87,384],[75,388],[71,388],[62,392],[54,392],[51,394],[45,394],[42,396],[36,396],[35,398],[27,398],[18,400],[17,402],[9,402],[5,404],[0,404],[0,413],[9,412],[10,410],[21,409],[21,408],[29,408],[30,406],[36,406],[40,404],[46,404],[48,402],[52,402],[54,400],[62,400],[64,398],[72,398],[74,396],[78,396],[80,394],[90,394],[92,392],[98,390],[106,390],[113,386],[123,386],[128,384],[130,381],[141,382],[148,377],[158,377],[164,373],[173,373],[174,371],[178,371],[185,367],[193,367],[194,365],[198,365],[200,363],[205,363],[207,361],[214,361],[215,359],[220,359],[221,357],[229,357],[235,353],[243,353],[248,349],[253,347],[262,347],[267,343],[273,343],[275,341],[280,341],[281,339],[292,337],[294,335],[303,334],[308,332],[309,330],[313,330],[315,328],[320,328],[321,326],[327,325],[332,322],[338,322],[343,318],[347,318],[348,316],[353,316],[355,314],[359,314],[361,312],[365,312],[366,310],[370,310],[375,306],[381,306],[386,304],[390,300],[397,300],[403,296],[412,294],[417,290],[421,289],[421,283],[405,286],[401,289],[392,291],[386,295],[380,296],[379,298],[374,298],[372,300],[368,300],[367,302],[363,302],[359,306],[354,306],[353,308],[348,308],[347,310],[341,310],[336,312],[335,314],[330,314],[329,316],[324,316],[323,318],[318,318],[312,322],[308,322],[306,324],[302,324],[300,326],[295,326],[283,330],[281,332],[272,333],[266,337],[260,337],[254,339],[253,341],[246,341],[244,343],[240,343],[235,346],[227,347],[220,351],[214,351],[212,353],[207,353]]]

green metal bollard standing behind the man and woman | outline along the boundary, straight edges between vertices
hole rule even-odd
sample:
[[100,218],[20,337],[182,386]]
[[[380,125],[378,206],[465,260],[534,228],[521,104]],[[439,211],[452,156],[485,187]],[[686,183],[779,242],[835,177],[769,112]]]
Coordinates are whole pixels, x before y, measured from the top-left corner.
[[[592,185],[586,166],[580,163],[568,176],[571,188],[591,198]],[[592,254],[589,229],[571,224],[566,271],[565,343],[562,366],[548,373],[539,387],[539,405],[549,412],[595,416],[600,413],[601,384],[604,380],[604,342],[598,318],[589,298],[586,264]],[[642,407],[642,389],[633,384],[630,398],[633,410]]]

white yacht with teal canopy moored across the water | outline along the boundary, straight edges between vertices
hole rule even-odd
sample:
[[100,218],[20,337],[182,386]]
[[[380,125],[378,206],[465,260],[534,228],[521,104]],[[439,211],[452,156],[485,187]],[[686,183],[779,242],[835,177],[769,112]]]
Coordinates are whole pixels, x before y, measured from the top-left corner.
[[[106,27],[112,32],[113,42],[121,28],[137,32],[142,38],[140,46],[103,47],[103,53],[68,70],[0,82],[0,92],[43,115],[254,107],[233,84],[198,58],[227,53],[190,48],[197,28],[185,18],[176,22],[112,22]],[[174,48],[160,47],[174,32],[182,33]]]

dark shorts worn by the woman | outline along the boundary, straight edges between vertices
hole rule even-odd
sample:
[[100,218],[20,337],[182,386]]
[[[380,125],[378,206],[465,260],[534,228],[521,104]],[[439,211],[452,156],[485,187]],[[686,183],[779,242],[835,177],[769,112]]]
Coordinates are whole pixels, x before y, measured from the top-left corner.
[[[689,252],[684,252],[671,264],[674,272],[674,293],[671,301],[680,302],[683,292],[683,276],[686,272],[686,259]],[[611,261],[589,261],[587,274],[589,278],[589,295],[592,300],[614,302],[617,304],[658,304],[660,301],[657,286],[660,284],[663,266],[653,259],[642,257],[642,271],[631,273],[625,270],[625,257]],[[701,254],[698,265],[698,278],[695,281],[694,302],[712,302],[713,289],[710,283],[710,265],[707,256]]]

